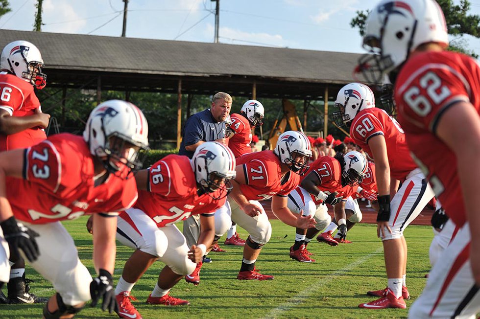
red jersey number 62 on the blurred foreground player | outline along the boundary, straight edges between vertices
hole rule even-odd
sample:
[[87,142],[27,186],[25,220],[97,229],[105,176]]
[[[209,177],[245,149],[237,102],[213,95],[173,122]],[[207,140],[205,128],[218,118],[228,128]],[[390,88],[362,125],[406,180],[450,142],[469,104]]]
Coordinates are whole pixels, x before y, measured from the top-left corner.
[[[465,223],[465,206],[455,154],[435,136],[443,112],[459,101],[470,101],[480,114],[480,67],[456,52],[428,52],[412,57],[395,85],[399,120],[419,167],[447,215],[457,226]],[[448,187],[448,191],[445,188]]]

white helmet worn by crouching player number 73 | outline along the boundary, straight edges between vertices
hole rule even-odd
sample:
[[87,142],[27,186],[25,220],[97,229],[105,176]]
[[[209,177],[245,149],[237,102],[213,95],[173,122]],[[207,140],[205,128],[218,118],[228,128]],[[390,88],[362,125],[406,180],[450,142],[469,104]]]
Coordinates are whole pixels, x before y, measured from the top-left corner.
[[[130,173],[142,168],[144,157],[140,150],[148,149],[148,124],[142,111],[132,103],[110,100],[90,113],[83,139],[90,153],[100,158],[109,172],[117,173],[127,166]],[[135,146],[130,147],[126,157],[122,155],[125,143]]]

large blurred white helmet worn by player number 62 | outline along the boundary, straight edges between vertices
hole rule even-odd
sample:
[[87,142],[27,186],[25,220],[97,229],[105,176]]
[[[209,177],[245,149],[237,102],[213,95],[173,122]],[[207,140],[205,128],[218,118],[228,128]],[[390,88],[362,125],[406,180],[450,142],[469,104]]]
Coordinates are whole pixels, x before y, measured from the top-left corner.
[[[366,20],[363,47],[372,54],[359,59],[369,82],[381,83],[418,46],[436,42],[448,46],[442,9],[434,0],[382,0]],[[393,81],[392,81],[393,83]]]

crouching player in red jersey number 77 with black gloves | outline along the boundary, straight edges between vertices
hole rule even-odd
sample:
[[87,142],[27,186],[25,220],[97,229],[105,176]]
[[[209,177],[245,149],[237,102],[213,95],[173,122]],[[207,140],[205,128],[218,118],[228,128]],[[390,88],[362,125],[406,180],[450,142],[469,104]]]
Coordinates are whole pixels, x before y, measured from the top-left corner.
[[[356,186],[363,179],[367,169],[367,160],[355,151],[345,155],[337,154],[335,157],[324,156],[315,160],[310,165],[307,174],[301,177],[300,186],[288,194],[288,208],[292,212],[296,214],[303,212],[303,215],[313,216],[315,219],[314,228],[310,228],[308,231],[307,229],[296,229],[295,243],[290,247],[290,258],[294,260],[315,261],[310,258],[310,252],[307,251],[306,245],[332,220],[325,204],[334,205],[335,217],[342,239],[345,239],[347,235],[346,219],[352,223],[361,221],[360,210],[352,210],[350,205],[345,207],[345,204],[347,198],[355,193]],[[331,241],[338,245],[335,240],[331,239]]]

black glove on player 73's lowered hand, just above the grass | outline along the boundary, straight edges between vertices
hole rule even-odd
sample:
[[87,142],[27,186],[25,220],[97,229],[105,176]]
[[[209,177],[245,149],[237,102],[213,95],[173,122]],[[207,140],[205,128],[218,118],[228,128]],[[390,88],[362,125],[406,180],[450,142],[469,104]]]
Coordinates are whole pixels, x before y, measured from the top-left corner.
[[92,296],[91,307],[95,307],[98,300],[103,298],[102,311],[108,309],[109,313],[118,311],[117,299],[115,298],[115,289],[113,288],[112,274],[104,269],[100,269],[98,277],[90,283],[90,296]]

